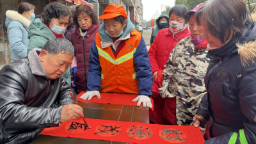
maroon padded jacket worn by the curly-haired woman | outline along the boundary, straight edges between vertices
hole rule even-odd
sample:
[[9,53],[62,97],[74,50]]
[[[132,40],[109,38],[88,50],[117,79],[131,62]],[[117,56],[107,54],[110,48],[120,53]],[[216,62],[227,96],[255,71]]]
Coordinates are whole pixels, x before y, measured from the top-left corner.
[[[76,26],[76,30],[71,35],[70,42],[74,45],[75,54],[77,58],[77,70],[76,70],[76,88],[77,93],[86,91],[86,81],[84,76],[84,56],[86,61],[86,73],[89,68],[89,56],[90,48],[93,41],[95,40],[96,33],[99,32],[100,23],[92,24],[91,28],[87,30],[86,35],[84,36],[84,52],[83,52],[83,36],[81,36],[79,27]],[[87,74],[86,74],[87,76]]]

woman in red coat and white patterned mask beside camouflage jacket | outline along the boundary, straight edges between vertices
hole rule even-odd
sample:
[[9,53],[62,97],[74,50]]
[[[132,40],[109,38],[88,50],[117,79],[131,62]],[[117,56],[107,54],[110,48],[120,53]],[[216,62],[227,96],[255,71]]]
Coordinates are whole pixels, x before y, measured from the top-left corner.
[[[158,88],[162,87],[164,65],[169,59],[170,53],[180,40],[190,35],[186,21],[188,8],[177,4],[169,12],[170,28],[161,29],[150,46],[148,55],[150,58],[151,70],[154,75],[152,85],[152,99],[154,99],[154,111],[150,109],[150,120],[156,124],[169,124],[163,116],[164,99],[162,99]],[[176,104],[176,100],[173,100]],[[176,109],[174,105],[173,109]]]

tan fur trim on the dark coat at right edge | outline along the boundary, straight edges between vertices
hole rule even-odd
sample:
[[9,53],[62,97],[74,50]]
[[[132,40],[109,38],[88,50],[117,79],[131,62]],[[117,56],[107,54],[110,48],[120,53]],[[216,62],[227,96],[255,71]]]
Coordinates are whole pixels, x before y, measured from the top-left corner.
[[243,67],[246,67],[250,61],[255,63],[254,58],[256,58],[256,40],[247,42],[246,44],[237,44],[238,54],[240,55],[240,60]]

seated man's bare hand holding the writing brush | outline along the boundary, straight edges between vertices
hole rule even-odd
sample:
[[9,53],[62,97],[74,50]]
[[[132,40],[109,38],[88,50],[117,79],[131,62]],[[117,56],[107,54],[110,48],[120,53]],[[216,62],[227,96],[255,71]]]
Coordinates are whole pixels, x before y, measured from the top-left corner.
[[68,122],[70,120],[79,120],[83,118],[83,108],[76,104],[67,104],[62,108],[60,122]]

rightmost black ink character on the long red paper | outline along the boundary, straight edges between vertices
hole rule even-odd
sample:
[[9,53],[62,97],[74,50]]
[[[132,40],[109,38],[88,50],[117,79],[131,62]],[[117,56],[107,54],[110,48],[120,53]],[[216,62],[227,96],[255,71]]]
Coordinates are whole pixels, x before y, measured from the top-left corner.
[[186,138],[186,139],[180,138],[180,136],[183,134],[183,132],[181,132],[180,130],[168,130],[166,128],[161,129],[161,130],[164,131],[164,132],[162,133],[160,138],[168,139],[168,140],[178,140],[180,142],[188,141],[188,138]]

